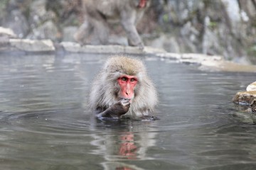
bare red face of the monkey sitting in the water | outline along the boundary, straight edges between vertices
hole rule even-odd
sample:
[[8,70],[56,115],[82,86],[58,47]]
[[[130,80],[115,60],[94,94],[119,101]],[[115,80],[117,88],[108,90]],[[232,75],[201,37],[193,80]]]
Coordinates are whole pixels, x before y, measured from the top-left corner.
[[137,84],[137,77],[123,75],[117,79],[117,82],[120,86],[119,97],[120,98],[134,98],[134,88]]

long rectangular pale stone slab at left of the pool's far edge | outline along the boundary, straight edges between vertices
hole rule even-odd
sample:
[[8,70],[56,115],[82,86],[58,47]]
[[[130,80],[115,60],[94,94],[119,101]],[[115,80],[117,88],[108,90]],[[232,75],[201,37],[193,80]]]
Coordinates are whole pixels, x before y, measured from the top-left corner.
[[10,39],[10,48],[22,52],[54,52],[55,47],[51,40]]

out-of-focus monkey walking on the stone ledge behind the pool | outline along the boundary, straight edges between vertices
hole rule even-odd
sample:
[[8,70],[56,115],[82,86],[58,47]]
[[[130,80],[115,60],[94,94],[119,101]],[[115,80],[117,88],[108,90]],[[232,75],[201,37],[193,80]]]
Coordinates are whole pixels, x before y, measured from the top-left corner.
[[109,23],[120,22],[128,44],[144,47],[136,25],[149,7],[149,0],[83,0],[82,4],[85,21],[74,35],[80,44],[111,44]]

